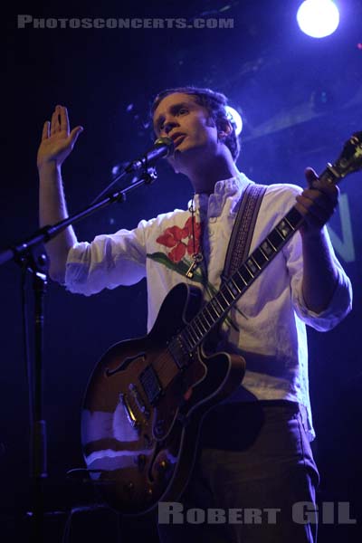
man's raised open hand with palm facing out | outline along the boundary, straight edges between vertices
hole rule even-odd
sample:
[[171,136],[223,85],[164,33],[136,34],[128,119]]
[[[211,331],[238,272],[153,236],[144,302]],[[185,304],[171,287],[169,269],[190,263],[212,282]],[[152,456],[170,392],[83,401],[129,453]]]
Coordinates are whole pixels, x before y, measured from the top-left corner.
[[78,126],[70,132],[67,109],[56,106],[52,113],[52,121],[45,121],[43,126],[42,142],[37,156],[38,168],[49,163],[61,166],[70,155],[82,130],[82,127]]

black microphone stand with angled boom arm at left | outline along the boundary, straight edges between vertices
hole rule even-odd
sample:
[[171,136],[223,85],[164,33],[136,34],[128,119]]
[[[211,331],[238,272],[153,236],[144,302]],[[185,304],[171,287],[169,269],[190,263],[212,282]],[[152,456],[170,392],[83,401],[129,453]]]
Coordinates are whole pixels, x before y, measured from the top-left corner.
[[[119,176],[111,183],[113,185],[127,173],[135,171],[134,163],[125,167]],[[33,490],[33,511],[27,516],[31,522],[31,543],[43,543],[44,541],[44,500],[43,480],[47,478],[46,457],[46,421],[43,417],[43,322],[44,322],[44,295],[48,281],[49,262],[45,252],[44,243],[49,242],[58,233],[61,233],[70,224],[77,223],[103,207],[115,202],[125,202],[126,196],[139,186],[150,185],[157,178],[154,167],[148,167],[144,161],[138,170],[138,180],[131,182],[129,186],[115,191],[100,201],[90,204],[81,212],[63,219],[59,223],[43,226],[33,235],[21,243],[0,252],[0,265],[14,260],[23,270],[30,271],[33,275],[34,296],[34,353],[33,364],[29,364],[29,404],[30,404],[30,452],[31,452],[31,484]]]

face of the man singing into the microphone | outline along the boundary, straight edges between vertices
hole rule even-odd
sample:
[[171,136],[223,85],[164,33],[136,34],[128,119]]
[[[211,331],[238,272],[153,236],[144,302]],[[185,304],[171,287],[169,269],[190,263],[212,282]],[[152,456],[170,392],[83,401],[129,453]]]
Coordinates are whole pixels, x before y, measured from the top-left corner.
[[[190,157],[215,153],[217,129],[208,111],[195,101],[195,96],[176,92],[166,96],[157,106],[153,116],[157,137],[167,136],[175,144],[174,157],[169,162],[178,169]],[[182,167],[179,171],[182,171]]]

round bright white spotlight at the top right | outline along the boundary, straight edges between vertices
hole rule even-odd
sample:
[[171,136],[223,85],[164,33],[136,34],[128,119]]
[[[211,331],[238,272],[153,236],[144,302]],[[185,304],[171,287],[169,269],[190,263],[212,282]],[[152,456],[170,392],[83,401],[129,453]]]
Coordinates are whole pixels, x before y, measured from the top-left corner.
[[312,38],[325,38],[339,24],[337,5],[331,0],[305,0],[297,13],[300,30]]

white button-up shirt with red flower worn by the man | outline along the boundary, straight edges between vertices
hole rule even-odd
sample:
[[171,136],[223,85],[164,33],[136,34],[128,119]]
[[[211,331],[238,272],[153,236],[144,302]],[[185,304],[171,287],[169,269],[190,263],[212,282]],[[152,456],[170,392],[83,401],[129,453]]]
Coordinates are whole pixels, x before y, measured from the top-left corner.
[[[201,223],[205,274],[216,289],[224,269],[237,203],[249,183],[251,181],[240,174],[217,182],[213,195],[195,195],[195,221]],[[251,252],[287,214],[300,192],[299,186],[267,187],[252,236]],[[185,262],[187,265],[191,262],[192,235],[190,237],[190,229],[186,227],[189,217],[188,209],[176,209],[152,220],[140,221],[134,230],[123,229],[99,235],[91,243],[76,243],[68,256],[67,289],[90,295],[147,277],[150,330],[167,292],[178,282],[201,286],[200,282],[187,279],[185,272],[178,270],[181,264],[176,262],[182,254],[180,262],[184,262],[184,268]],[[336,258],[326,228],[324,235],[338,271],[338,284],[326,310],[316,314],[308,310],[303,300],[301,239],[300,233],[295,233],[230,311],[237,330],[226,322],[223,325],[225,345],[232,345],[241,352],[247,367],[243,385],[227,401],[286,399],[299,402],[305,408],[310,439],[315,434],[310,411],[305,325],[320,331],[332,329],[347,315],[352,300],[350,281]],[[176,256],[171,257],[173,249],[177,249]],[[158,258],[160,252],[164,260]],[[199,278],[199,274],[200,269],[195,272],[195,278]]]

